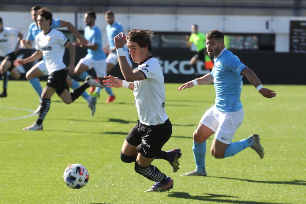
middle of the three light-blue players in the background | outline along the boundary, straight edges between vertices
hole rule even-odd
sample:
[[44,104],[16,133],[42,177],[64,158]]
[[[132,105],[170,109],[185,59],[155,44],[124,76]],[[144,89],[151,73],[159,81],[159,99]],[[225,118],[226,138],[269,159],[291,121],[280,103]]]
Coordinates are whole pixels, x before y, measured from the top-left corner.
[[[88,76],[86,72],[88,69],[94,68],[97,78],[102,82],[106,75],[106,55],[102,50],[102,33],[100,29],[95,25],[96,14],[93,11],[88,11],[84,15],[84,22],[87,25],[84,28],[84,37],[89,41],[89,44],[84,45],[78,42],[74,42],[76,47],[82,47],[87,49],[87,55],[80,59],[76,65],[74,73],[81,79],[85,79]],[[105,91],[109,94],[109,97],[115,97],[110,87],[105,87]]]

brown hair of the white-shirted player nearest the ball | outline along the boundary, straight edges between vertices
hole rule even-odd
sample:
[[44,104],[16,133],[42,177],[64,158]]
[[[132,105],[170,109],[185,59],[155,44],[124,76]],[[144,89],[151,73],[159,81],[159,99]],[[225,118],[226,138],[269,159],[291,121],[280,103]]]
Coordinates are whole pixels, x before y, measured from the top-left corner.
[[148,46],[149,52],[152,52],[152,39],[154,33],[151,30],[134,29],[126,36],[126,40],[137,43],[140,47]]

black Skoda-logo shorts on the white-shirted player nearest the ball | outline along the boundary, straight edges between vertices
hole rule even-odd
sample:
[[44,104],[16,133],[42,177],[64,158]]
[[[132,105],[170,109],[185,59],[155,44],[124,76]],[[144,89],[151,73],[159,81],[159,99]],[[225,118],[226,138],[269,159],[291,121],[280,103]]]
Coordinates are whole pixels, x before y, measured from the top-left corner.
[[170,139],[172,124],[169,118],[163,124],[145,125],[137,121],[125,140],[146,158],[155,158]]

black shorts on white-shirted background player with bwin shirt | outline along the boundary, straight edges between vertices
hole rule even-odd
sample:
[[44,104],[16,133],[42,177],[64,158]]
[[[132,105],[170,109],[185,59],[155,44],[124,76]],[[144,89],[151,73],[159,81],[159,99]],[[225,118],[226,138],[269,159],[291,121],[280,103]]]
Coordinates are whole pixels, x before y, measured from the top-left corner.
[[55,88],[56,93],[60,96],[65,89],[69,90],[67,85],[68,70],[61,69],[59,71],[52,72],[47,80],[47,86]]

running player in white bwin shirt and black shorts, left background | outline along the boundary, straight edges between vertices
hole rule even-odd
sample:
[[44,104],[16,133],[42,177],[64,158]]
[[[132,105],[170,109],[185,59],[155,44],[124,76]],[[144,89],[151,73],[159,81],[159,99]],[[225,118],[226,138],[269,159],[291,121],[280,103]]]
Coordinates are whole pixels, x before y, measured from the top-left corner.
[[[34,124],[23,128],[23,130],[43,129],[43,120],[49,111],[51,103],[50,99],[55,92],[63,102],[70,104],[74,102],[85,91],[86,88],[100,85],[95,80],[93,80],[92,77],[88,76],[82,85],[69,93],[66,79],[68,72],[73,74],[75,47],[69,42],[69,39],[67,39],[62,32],[50,27],[51,22],[52,13],[46,8],[39,9],[37,24],[42,32],[37,34],[35,38],[36,52],[26,59],[15,61],[17,65],[22,65],[35,61],[44,56],[46,68],[48,73],[50,73],[47,80],[47,85],[43,89],[43,93],[41,95],[42,108],[39,111],[39,117],[37,121],[34,122]],[[69,49],[70,55],[70,64],[67,68],[63,62],[65,48]]]

